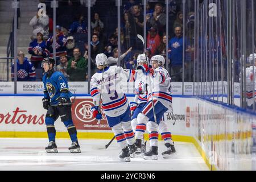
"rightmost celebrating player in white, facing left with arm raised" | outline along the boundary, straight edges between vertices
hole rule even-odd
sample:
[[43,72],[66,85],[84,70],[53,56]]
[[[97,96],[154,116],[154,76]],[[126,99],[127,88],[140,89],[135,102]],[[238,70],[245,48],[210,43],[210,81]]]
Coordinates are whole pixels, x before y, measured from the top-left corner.
[[[138,148],[141,148],[146,126],[150,133],[151,150],[144,154],[144,159],[158,159],[158,125],[162,138],[165,141],[165,146],[167,147],[167,151],[162,153],[163,158],[168,158],[176,152],[171,133],[168,131],[166,123],[163,122],[160,125],[163,114],[168,110],[172,111],[171,77],[166,69],[163,68],[164,63],[164,57],[156,55],[151,58],[152,68],[148,68],[146,64],[138,67],[138,69],[141,68],[144,73],[147,73],[150,78],[149,88],[147,89],[147,104],[143,107],[141,113],[138,114],[138,124],[135,133]],[[154,106],[152,102],[154,102]],[[155,113],[153,107],[155,107]]]

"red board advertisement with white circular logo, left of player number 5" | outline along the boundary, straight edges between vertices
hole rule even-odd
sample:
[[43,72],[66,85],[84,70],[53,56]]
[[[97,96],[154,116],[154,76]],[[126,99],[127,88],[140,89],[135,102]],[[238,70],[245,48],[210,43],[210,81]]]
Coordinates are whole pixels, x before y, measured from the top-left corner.
[[90,107],[93,106],[92,98],[77,98],[72,105],[72,119],[78,130],[111,130],[106,121],[103,110],[102,119],[93,118]]

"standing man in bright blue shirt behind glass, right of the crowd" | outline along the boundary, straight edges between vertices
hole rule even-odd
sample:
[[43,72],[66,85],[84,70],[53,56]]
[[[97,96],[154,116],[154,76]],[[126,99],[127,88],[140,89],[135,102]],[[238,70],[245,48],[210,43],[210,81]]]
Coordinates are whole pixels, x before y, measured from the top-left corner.
[[181,72],[183,68],[183,34],[182,28],[180,26],[175,27],[174,29],[175,37],[172,38],[169,42],[169,48],[171,51],[169,52],[170,60],[171,60],[171,75],[177,74],[172,80],[174,81],[182,81]]

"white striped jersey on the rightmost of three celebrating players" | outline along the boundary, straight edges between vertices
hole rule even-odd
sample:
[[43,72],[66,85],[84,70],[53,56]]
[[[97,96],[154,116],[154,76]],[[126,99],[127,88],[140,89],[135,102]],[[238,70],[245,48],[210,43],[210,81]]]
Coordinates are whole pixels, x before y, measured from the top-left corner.
[[154,70],[154,76],[148,75],[147,77],[150,78],[149,81],[151,82],[151,88],[147,89],[148,101],[152,100],[152,91],[154,100],[162,102],[164,106],[172,110],[171,77],[168,71],[163,67],[158,67]]

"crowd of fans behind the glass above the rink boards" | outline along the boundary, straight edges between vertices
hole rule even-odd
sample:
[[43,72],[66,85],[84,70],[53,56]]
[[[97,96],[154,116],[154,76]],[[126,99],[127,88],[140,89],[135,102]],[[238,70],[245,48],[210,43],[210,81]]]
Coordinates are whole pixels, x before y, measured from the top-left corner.
[[[69,81],[87,81],[88,69],[91,69],[92,74],[96,72],[95,59],[98,53],[105,53],[111,65],[117,64],[118,28],[114,28],[113,32],[111,32],[110,28],[106,28],[105,21],[100,16],[102,12],[98,12],[100,10],[97,11],[97,1],[93,1],[93,3],[96,6],[93,9],[94,14],[90,22],[90,28],[92,30],[90,45],[87,43],[88,23],[86,22],[86,14],[79,13],[82,11],[76,9],[78,7],[86,8],[82,1],[63,1],[63,6],[60,1],[60,6],[76,9],[77,14],[70,14],[67,8],[58,10],[66,16],[70,15],[69,19],[75,17],[75,20],[69,25],[64,21],[59,21],[60,23],[57,21],[57,26],[54,27],[56,30],[55,45],[53,44],[53,21],[51,13],[47,12],[48,15],[43,17],[39,17],[36,14],[31,19],[30,26],[33,28],[33,31],[28,53],[31,55],[32,69],[40,69],[44,57],[53,56],[53,47],[56,48],[56,69],[63,72]],[[191,44],[189,39],[186,39],[185,45],[183,45],[183,13],[180,12],[181,3],[182,1],[180,0],[171,0],[168,5],[170,27],[168,38],[166,36],[166,10],[164,8],[164,1],[147,1],[146,5],[146,53],[149,58],[154,55],[166,57],[168,53],[168,60],[166,61],[169,68],[168,71],[170,71],[171,75],[176,75],[172,78],[173,81],[182,81],[183,46],[186,47],[187,53],[191,54],[193,52],[193,49],[188,48]],[[47,11],[50,11],[50,9],[47,9]],[[111,13],[111,11],[114,12],[116,10],[108,9],[108,11]],[[143,44],[137,38],[137,34],[143,35],[144,26],[141,1],[123,1],[121,12],[121,66],[126,69],[136,69],[137,56],[143,52]],[[108,16],[108,18],[112,17]],[[193,12],[189,13],[189,21],[193,21]],[[185,27],[185,31],[187,30]],[[191,31],[191,27],[189,31]],[[169,47],[167,52],[166,44]],[[91,50],[90,68],[88,68],[89,46]],[[191,56],[186,57],[188,57],[188,59],[185,59],[186,63],[192,61]],[[25,57],[24,59],[28,60]],[[189,77],[191,75],[188,75]]]

